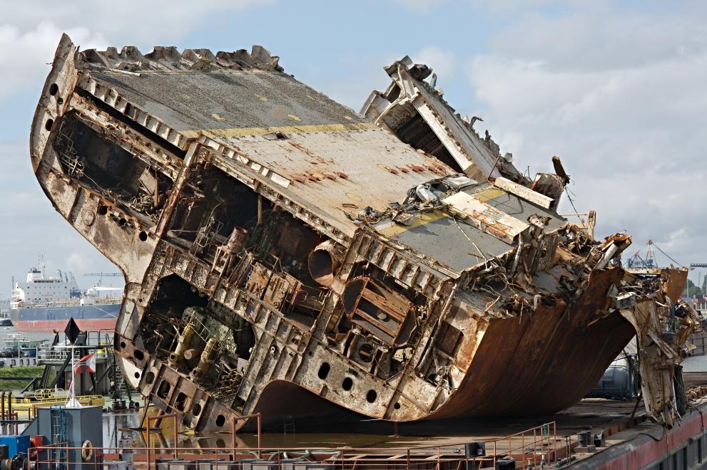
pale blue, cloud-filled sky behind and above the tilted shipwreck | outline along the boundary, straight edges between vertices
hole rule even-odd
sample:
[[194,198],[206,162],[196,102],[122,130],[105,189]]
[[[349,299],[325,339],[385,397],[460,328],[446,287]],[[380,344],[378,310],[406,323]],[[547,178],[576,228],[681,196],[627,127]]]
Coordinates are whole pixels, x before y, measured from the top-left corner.
[[[707,262],[707,4],[702,1],[16,1],[0,19],[0,297],[47,268],[116,271],[52,209],[28,132],[56,43],[233,51],[261,44],[285,71],[354,108],[382,67],[428,63],[459,112],[477,115],[531,174],[559,155],[601,236],[626,230],[683,264]],[[481,124],[481,126],[479,126]],[[570,211],[564,202],[562,211]],[[668,259],[658,253],[658,262]],[[707,269],[703,269],[707,274]],[[691,273],[697,281],[699,270]]]

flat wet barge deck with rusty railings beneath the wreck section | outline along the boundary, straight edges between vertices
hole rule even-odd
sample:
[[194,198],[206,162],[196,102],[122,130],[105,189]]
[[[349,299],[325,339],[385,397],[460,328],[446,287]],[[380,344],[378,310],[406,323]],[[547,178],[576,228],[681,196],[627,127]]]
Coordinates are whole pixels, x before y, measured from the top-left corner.
[[[695,396],[707,390],[707,372],[687,372],[685,383]],[[635,400],[584,399],[546,417],[417,423],[418,429],[400,426],[400,435],[389,435],[392,424],[382,422],[361,423],[379,434],[355,434],[347,427],[337,427],[337,434],[331,428],[318,434],[180,434],[173,415],[166,414],[150,417],[146,428],[133,432],[132,442],[121,439],[121,448],[94,454],[103,455],[96,467],[108,469],[701,468],[707,399],[692,400],[688,409],[671,430],[646,419]],[[133,417],[137,426],[139,417]],[[591,444],[582,449],[578,434],[587,431]],[[496,466],[509,456],[515,467]]]

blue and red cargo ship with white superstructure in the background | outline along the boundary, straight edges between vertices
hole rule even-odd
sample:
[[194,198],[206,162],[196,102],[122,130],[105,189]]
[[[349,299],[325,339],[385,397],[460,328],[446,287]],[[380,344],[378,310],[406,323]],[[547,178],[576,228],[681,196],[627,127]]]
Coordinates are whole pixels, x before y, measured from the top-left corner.
[[47,276],[44,262],[13,283],[9,318],[20,331],[62,331],[70,318],[81,330],[113,330],[123,288],[94,286],[81,291],[72,273]]

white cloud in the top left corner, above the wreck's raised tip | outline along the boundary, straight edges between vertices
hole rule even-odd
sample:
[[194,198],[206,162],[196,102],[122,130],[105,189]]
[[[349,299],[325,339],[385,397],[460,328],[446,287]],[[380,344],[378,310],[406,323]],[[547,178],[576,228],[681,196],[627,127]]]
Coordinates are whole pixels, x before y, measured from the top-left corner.
[[274,2],[201,0],[195,7],[193,1],[126,0],[119,8],[110,9],[99,1],[8,2],[0,20],[0,63],[4,64],[0,68],[0,103],[16,93],[41,87],[62,32],[81,49],[137,45],[148,52],[156,43],[171,45],[214,14]]

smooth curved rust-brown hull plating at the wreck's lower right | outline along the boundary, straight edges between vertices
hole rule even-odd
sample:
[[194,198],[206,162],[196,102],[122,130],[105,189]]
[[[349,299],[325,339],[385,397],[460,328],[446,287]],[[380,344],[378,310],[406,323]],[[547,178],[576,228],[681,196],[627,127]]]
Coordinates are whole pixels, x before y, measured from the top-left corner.
[[617,274],[596,276],[571,308],[490,320],[461,387],[430,417],[546,414],[583,398],[636,334],[619,315],[596,321]]

